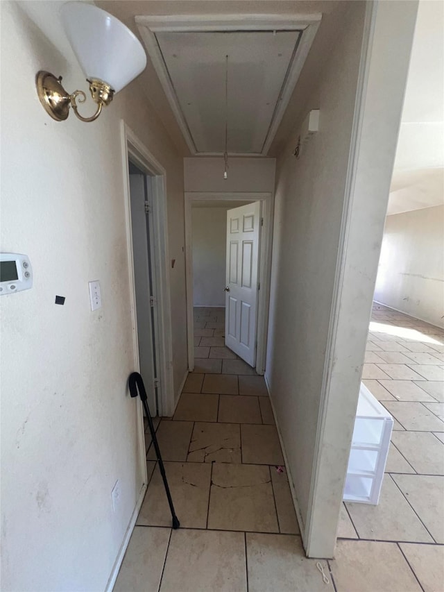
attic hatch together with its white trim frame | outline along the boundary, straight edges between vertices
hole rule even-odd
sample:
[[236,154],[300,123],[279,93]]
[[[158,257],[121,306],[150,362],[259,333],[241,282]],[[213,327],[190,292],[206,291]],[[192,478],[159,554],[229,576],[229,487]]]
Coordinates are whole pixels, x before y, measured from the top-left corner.
[[267,155],[318,15],[135,17],[192,155]]

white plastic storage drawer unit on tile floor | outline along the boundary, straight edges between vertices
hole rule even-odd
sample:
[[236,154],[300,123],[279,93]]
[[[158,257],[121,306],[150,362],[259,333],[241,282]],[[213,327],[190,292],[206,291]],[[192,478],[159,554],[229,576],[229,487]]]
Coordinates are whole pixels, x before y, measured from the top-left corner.
[[376,505],[390,446],[393,418],[361,383],[343,498]]

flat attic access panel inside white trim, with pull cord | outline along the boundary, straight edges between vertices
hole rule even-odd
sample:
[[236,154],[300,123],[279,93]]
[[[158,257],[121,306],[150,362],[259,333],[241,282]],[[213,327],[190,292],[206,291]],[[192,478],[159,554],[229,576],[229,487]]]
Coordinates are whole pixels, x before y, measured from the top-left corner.
[[282,117],[280,101],[301,35],[299,30],[155,33],[170,85],[167,96],[172,92],[176,99],[176,117],[195,153],[225,151],[225,56],[228,152],[264,153]]

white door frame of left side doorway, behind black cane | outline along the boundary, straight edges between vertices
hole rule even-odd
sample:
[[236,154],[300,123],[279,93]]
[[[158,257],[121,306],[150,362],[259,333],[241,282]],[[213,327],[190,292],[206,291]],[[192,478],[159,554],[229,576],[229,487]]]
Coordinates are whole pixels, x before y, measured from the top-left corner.
[[[173,396],[173,345],[171,333],[171,294],[169,282],[169,245],[168,245],[168,212],[167,212],[167,173],[162,164],[140,142],[133,130],[121,120],[121,156],[123,166],[123,197],[125,203],[126,244],[128,253],[128,272],[130,288],[130,311],[133,328],[133,360],[134,368],[139,371],[139,344],[137,337],[137,314],[134,280],[133,234],[131,228],[130,179],[128,160],[144,173],[151,176],[153,193],[151,244],[153,253],[153,286],[155,288],[155,344],[157,355],[157,371],[160,381],[160,396],[158,398],[159,415],[172,414],[174,408]],[[138,422],[141,434],[144,434],[142,404],[138,400]],[[141,454],[145,459],[144,438],[141,438]],[[145,464],[145,462],[144,462]],[[146,468],[145,468],[146,471]]]

